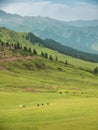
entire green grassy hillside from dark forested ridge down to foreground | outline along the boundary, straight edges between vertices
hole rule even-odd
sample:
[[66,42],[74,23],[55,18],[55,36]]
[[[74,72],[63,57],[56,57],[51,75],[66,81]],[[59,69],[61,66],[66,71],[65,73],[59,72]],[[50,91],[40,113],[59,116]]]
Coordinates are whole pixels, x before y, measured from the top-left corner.
[[[97,130],[98,75],[93,70],[98,64],[8,31],[0,31],[0,130]],[[17,42],[38,55],[15,50]],[[42,51],[53,60],[40,56]]]

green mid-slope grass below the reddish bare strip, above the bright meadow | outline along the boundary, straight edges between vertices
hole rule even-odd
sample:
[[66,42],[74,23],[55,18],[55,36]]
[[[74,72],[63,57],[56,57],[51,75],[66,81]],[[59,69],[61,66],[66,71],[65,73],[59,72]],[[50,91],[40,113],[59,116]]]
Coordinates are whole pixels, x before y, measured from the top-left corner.
[[[36,88],[44,91],[89,89],[98,86],[98,77],[91,72],[43,58],[0,63],[0,88]],[[43,88],[43,89],[42,89]]]

